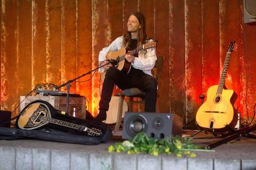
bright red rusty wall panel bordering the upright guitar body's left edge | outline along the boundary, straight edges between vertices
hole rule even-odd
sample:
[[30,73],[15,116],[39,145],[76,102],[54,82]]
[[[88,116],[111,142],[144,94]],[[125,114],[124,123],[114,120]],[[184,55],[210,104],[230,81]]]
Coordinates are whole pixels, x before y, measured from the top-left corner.
[[195,118],[202,91],[201,44],[202,44],[201,0],[185,1],[185,83],[186,122]]

